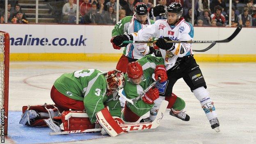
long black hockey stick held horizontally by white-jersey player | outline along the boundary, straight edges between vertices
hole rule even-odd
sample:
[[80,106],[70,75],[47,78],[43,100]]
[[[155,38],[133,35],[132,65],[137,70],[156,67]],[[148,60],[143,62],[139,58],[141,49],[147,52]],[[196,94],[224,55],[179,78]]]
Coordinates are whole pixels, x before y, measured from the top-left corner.
[[[242,30],[242,25],[238,26],[235,29],[235,32],[233,32],[233,34],[224,40],[211,40],[211,41],[166,41],[167,43],[227,43],[229,41],[231,41],[232,39],[235,38],[236,35],[238,35],[238,33]],[[123,43],[156,43],[155,41],[123,41]]]

